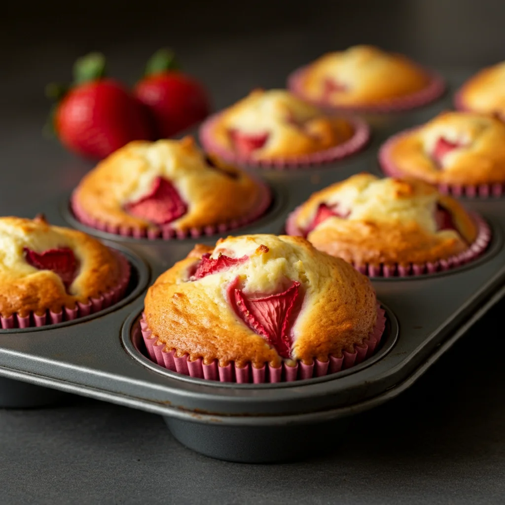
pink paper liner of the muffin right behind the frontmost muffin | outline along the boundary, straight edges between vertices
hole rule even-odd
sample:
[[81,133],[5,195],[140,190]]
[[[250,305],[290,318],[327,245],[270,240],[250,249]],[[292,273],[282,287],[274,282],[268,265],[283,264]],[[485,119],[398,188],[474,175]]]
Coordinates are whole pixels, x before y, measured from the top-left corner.
[[[289,214],[285,228],[288,235],[305,236],[304,232],[296,225],[296,215],[301,206],[297,207],[291,214]],[[359,272],[369,277],[413,277],[419,275],[433,274],[435,272],[445,272],[452,268],[460,267],[466,263],[475,260],[480,256],[489,245],[491,240],[491,229],[489,225],[478,214],[470,213],[477,225],[477,237],[468,249],[460,252],[455,256],[438,260],[435,262],[419,263],[408,265],[360,265],[352,263],[352,266]]]

